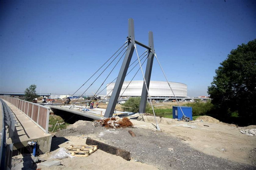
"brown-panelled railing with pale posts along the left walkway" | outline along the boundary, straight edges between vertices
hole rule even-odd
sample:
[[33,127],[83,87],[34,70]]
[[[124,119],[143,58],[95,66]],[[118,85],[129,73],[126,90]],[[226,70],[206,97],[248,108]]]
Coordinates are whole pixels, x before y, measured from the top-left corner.
[[0,98],[11,103],[48,134],[50,108],[13,97],[0,95]]

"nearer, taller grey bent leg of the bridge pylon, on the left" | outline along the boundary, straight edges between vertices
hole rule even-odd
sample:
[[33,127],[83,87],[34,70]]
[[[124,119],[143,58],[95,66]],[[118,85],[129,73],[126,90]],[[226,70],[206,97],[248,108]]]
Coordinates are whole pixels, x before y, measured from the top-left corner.
[[114,110],[116,107],[116,102],[119,97],[120,91],[122,89],[124,78],[127,73],[131,58],[133,56],[135,39],[134,39],[134,21],[131,18],[128,20],[128,37],[130,37],[131,39],[128,41],[126,55],[124,57],[122,67],[121,67],[118,77],[116,79],[116,83],[113,88],[112,95],[109,99],[108,106],[105,111],[104,117],[112,117],[113,116],[113,113],[114,113]]

